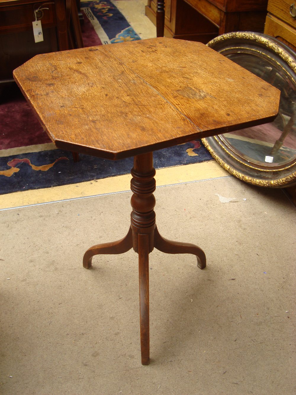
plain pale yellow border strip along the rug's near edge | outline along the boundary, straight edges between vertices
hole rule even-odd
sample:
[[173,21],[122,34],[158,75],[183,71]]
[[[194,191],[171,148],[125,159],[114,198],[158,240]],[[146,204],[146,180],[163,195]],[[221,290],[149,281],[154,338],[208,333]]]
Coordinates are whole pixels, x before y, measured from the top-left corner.
[[[157,169],[155,179],[157,186],[164,186],[226,176],[229,176],[229,173],[217,162],[209,161]],[[131,175],[126,174],[79,184],[14,192],[0,196],[0,209],[127,191],[130,189],[130,181]]]

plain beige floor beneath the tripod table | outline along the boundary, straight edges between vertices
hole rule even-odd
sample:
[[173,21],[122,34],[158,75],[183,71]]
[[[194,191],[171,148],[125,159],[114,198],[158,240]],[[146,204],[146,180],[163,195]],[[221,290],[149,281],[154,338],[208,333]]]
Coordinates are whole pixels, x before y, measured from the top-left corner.
[[[219,197],[220,196],[220,197]],[[1,394],[295,394],[295,208],[224,177],[155,191],[167,238],[207,255],[150,254],[150,355],[141,365],[131,192],[0,211]],[[220,199],[234,198],[229,203]]]

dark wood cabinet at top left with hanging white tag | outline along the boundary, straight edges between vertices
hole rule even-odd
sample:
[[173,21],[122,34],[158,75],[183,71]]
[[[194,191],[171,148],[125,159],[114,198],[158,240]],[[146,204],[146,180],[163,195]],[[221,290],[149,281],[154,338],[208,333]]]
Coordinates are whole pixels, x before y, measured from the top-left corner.
[[[44,40],[35,43],[32,22],[39,7],[45,8],[37,13]],[[75,0],[0,0],[0,83],[13,81],[12,71],[37,54],[81,47]]]

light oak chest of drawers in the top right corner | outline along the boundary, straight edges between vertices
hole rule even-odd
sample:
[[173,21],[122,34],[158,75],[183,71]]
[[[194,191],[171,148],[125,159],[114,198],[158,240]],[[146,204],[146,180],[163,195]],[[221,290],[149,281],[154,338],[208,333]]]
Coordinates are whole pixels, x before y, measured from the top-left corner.
[[290,14],[292,0],[269,0],[264,33],[296,51],[296,20]]

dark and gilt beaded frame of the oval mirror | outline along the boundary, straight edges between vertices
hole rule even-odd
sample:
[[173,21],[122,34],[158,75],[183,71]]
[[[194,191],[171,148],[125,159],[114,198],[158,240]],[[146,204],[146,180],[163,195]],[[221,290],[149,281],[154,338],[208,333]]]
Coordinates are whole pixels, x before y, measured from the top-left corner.
[[[231,44],[234,45],[231,46]],[[250,49],[250,44],[252,48]],[[255,55],[266,58],[262,48],[270,51],[274,55],[273,61],[278,68],[289,74],[290,81],[296,85],[296,58],[292,50],[283,45],[280,41],[264,34],[253,32],[232,32],[214,38],[207,44],[222,55],[228,53],[241,52],[244,47],[247,51],[252,50]],[[247,47],[248,45],[248,47]],[[248,52],[249,53],[249,52]],[[226,56],[225,55],[225,56]],[[280,61],[276,61],[279,59]],[[290,72],[288,71],[290,70]],[[264,167],[244,160],[239,154],[225,143],[223,135],[206,137],[202,139],[205,147],[213,158],[230,174],[249,184],[283,188],[296,185],[296,158],[289,164],[279,167]]]

